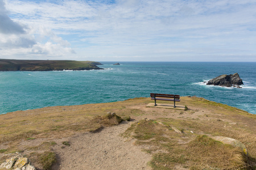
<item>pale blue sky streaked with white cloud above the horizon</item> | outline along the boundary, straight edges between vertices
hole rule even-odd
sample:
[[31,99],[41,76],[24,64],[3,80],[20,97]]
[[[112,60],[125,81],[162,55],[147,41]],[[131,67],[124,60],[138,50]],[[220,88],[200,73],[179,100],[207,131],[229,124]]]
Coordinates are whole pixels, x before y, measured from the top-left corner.
[[0,58],[256,62],[255,0],[0,0]]

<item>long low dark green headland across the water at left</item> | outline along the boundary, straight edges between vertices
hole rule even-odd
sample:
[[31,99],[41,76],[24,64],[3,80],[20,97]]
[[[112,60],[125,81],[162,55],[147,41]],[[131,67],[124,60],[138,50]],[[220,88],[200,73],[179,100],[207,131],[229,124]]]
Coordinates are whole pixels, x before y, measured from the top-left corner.
[[0,71],[98,70],[100,62],[74,60],[0,59]]

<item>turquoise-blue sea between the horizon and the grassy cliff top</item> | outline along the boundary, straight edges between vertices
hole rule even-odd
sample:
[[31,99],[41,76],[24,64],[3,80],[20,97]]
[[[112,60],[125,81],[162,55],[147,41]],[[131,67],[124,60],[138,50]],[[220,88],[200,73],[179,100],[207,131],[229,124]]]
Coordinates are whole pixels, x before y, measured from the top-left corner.
[[[1,71],[0,114],[57,105],[109,103],[150,93],[197,96],[256,114],[256,62],[101,62],[104,70]],[[242,88],[208,86],[238,73]],[[189,106],[188,106],[189,107]]]

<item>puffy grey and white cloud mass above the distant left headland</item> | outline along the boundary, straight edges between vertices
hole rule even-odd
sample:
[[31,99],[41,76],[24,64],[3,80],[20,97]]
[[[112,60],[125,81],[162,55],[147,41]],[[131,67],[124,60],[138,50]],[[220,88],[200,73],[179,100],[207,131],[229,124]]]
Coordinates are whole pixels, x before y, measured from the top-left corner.
[[63,57],[75,54],[67,40],[43,26],[15,22],[7,14],[5,3],[0,0],[0,52],[1,57],[23,58]]

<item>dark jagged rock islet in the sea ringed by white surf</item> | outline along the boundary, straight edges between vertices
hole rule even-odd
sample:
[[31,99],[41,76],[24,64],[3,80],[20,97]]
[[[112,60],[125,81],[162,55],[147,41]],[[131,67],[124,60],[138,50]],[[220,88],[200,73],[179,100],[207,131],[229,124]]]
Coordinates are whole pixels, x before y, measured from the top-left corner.
[[224,87],[239,87],[243,84],[242,79],[238,75],[238,73],[230,74],[230,75],[220,75],[214,79],[211,79],[207,82],[207,85],[214,85],[214,86],[224,86]]

